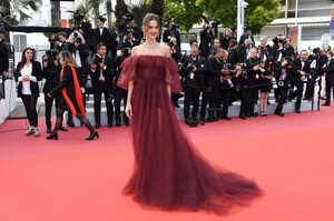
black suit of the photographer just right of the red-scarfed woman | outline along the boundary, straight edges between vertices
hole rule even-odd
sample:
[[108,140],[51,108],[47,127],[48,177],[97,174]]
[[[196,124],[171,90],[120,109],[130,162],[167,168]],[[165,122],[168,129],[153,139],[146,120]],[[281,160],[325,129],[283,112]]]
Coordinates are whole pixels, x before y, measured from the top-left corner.
[[114,61],[110,57],[104,58],[104,63],[106,66],[105,70],[100,69],[97,64],[95,71],[90,70],[92,92],[94,92],[94,110],[95,110],[95,121],[100,124],[101,121],[101,96],[105,94],[108,123],[112,124],[114,109],[111,102],[112,92],[112,78],[114,78]]

